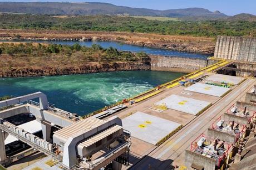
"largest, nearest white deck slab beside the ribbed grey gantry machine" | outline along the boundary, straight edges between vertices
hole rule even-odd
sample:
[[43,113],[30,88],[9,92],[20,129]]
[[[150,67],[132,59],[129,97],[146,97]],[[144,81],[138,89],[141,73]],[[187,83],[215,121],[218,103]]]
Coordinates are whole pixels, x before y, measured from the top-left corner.
[[136,112],[126,117],[122,120],[122,125],[125,130],[131,132],[131,136],[153,145],[156,145],[162,138],[180,126],[179,123],[151,116],[143,112]]

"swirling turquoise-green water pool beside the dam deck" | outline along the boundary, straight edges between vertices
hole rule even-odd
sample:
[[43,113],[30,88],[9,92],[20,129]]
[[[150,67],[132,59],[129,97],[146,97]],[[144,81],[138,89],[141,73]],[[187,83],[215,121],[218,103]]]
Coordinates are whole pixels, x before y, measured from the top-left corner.
[[164,71],[120,71],[38,78],[0,79],[0,96],[42,91],[63,110],[85,115],[182,76]]

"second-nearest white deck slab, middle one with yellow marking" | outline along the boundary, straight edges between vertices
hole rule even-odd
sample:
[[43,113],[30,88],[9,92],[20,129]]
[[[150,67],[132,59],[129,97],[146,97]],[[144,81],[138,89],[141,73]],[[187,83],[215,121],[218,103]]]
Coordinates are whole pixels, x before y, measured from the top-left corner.
[[210,105],[210,102],[196,100],[196,99],[183,97],[179,95],[171,95],[159,102],[156,102],[155,104],[156,105],[166,104],[166,106],[169,109],[178,110],[191,115],[196,115],[205,107]]

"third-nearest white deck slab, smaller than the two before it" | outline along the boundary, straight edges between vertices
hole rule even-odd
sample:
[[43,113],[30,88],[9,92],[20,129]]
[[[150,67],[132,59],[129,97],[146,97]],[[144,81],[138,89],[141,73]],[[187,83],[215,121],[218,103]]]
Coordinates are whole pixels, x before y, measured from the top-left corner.
[[216,96],[216,97],[221,97],[223,94],[228,92],[230,89],[225,88],[225,87],[203,84],[203,83],[196,83],[196,84],[189,86],[185,90],[199,92],[201,94],[206,94],[206,95],[211,95],[211,96]]

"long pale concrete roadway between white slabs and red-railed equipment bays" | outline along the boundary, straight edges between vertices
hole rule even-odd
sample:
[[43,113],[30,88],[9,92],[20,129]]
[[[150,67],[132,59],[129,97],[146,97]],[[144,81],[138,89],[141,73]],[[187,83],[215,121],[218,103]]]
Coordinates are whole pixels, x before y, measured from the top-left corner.
[[201,133],[206,133],[211,123],[223,115],[245,92],[250,90],[255,82],[255,79],[245,80],[244,83],[227,96],[215,102],[204,114],[196,117],[173,137],[169,138],[168,141],[150,152],[150,154],[147,154],[144,159],[131,169],[144,169],[149,164],[152,169],[174,169],[170,164],[178,165],[179,167],[184,166],[185,150],[190,149],[191,141],[195,140]]

